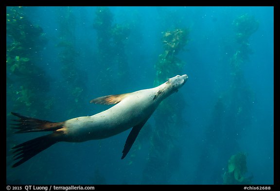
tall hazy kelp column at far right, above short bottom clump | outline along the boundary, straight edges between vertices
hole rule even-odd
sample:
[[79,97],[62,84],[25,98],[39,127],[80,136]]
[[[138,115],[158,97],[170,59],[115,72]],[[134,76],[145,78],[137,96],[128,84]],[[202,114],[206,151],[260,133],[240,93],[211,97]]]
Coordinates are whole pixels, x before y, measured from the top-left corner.
[[[245,80],[243,65],[249,61],[249,54],[253,51],[250,48],[249,38],[259,28],[259,22],[254,16],[248,14],[241,15],[233,21],[235,29],[236,47],[232,57],[230,58],[231,71],[233,77],[230,89],[228,90],[225,99],[228,99],[228,108],[234,116],[232,124],[236,124],[239,128],[248,126],[251,121],[251,109],[254,103],[253,92],[247,85]],[[237,127],[235,129],[238,129]],[[238,130],[236,130],[238,131]],[[234,132],[240,133],[240,132]]]

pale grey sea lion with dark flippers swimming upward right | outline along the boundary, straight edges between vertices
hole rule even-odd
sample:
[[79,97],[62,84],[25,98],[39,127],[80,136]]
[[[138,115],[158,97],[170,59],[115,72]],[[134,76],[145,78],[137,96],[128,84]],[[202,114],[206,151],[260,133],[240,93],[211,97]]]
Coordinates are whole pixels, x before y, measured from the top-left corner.
[[[162,100],[177,92],[187,81],[188,76],[176,75],[158,87],[142,89],[132,93],[108,95],[90,101],[94,104],[116,104],[113,107],[86,117],[77,117],[64,122],[49,122],[22,116],[12,112],[19,119],[15,133],[53,131],[52,134],[38,137],[19,144],[15,149],[16,162],[13,167],[60,141],[83,142],[92,139],[105,139],[132,128],[128,135],[122,159],[127,155],[143,125],[156,110]],[[16,157],[17,156],[17,157]]]

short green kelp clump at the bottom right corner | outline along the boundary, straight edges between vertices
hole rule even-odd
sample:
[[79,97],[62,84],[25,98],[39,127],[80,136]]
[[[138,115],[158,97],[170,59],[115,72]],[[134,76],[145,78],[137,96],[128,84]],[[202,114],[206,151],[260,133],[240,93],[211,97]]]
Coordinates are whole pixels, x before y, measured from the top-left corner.
[[224,184],[252,184],[252,178],[245,177],[247,163],[245,153],[233,155],[228,160],[227,172],[224,174]]

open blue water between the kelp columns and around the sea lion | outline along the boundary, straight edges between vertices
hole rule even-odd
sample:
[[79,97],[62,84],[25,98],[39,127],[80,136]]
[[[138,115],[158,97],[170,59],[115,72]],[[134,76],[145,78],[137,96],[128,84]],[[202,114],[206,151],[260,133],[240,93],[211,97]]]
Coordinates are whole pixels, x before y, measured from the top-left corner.
[[[180,132],[180,137],[175,138],[179,153],[175,150],[175,154],[170,155],[171,159],[163,158],[163,163],[150,161],[150,138],[156,124],[153,115],[148,121],[152,130],[145,131],[146,126],[141,130],[144,137],[141,148],[134,145],[134,151],[131,150],[123,160],[123,146],[130,130],[107,139],[82,143],[59,142],[16,168],[11,168],[13,163],[7,162],[7,183],[223,184],[227,162],[230,156],[238,152],[246,153],[245,176],[253,175],[252,184],[274,183],[273,7],[109,7],[113,15],[112,24],[128,25],[130,33],[124,50],[112,53],[125,55],[127,73],[118,77],[120,69],[112,64],[111,68],[108,67],[110,72],[106,74],[107,78],[111,78],[108,81],[103,78],[104,71],[100,69],[102,63],[98,61],[98,34],[93,28],[96,7],[71,7],[74,22],[70,27],[70,39],[76,52],[74,67],[78,73],[75,76],[78,83],[67,81],[59,59],[62,54],[62,49],[57,46],[62,34],[59,20],[63,21],[65,12],[59,7],[22,7],[22,10],[32,24],[43,29],[48,40],[33,63],[44,71],[48,88],[44,84],[36,85],[41,86],[44,92],[36,97],[37,105],[33,103],[36,112],[32,110],[34,113],[30,113],[24,106],[15,107],[16,100],[10,96],[8,89],[13,84],[23,86],[26,79],[21,82],[20,78],[13,78],[7,69],[7,77],[12,78],[11,82],[7,82],[7,123],[16,119],[10,112],[54,122],[93,115],[109,106],[89,104],[91,99],[154,87],[155,64],[158,55],[163,52],[162,36],[166,31],[177,28],[190,30],[185,50],[177,54],[186,64],[180,73],[170,77],[187,74],[189,79],[177,94],[171,95],[184,100],[184,107],[175,107],[183,121],[176,127],[178,131],[172,130],[173,133]],[[234,75],[230,58],[237,47],[232,23],[246,13],[255,17],[259,28],[248,40],[253,53],[240,66],[244,77],[243,82],[238,84],[241,87],[232,91]],[[7,44],[11,43],[7,37]],[[116,63],[114,59],[112,63]],[[66,72],[70,75],[72,70],[68,68]],[[75,82],[75,86],[71,82]],[[246,86],[243,86],[244,83]],[[82,91],[75,97],[71,91],[77,85]],[[215,118],[219,97],[223,106],[219,111],[221,114]],[[237,103],[232,101],[235,98]],[[38,104],[47,100],[52,102],[49,108]],[[239,102],[242,102],[242,106],[233,109]],[[224,125],[217,128],[217,121],[220,120]],[[7,128],[10,129],[10,125]],[[43,134],[15,134],[7,141],[12,139],[19,144]],[[169,144],[168,138],[161,139]],[[10,157],[7,156],[7,161],[11,160]],[[161,173],[160,167],[155,172],[145,170],[147,164],[156,167],[165,164],[164,161],[168,161],[169,165],[165,179],[157,176],[157,173]]]

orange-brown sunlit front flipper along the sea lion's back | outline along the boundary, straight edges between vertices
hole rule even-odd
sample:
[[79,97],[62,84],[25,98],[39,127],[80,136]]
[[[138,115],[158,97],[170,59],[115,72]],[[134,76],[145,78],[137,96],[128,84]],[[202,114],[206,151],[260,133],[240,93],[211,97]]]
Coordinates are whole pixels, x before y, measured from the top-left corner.
[[105,105],[118,104],[125,97],[127,97],[129,94],[130,93],[103,96],[103,97],[95,98],[95,99],[91,100],[89,103],[90,104],[91,103],[94,103],[94,104],[105,104]]

